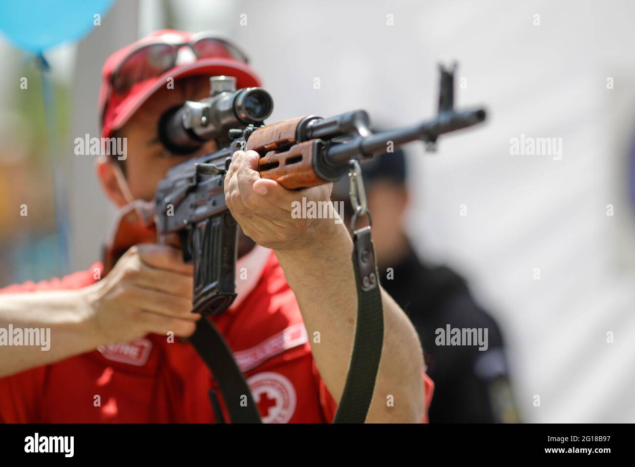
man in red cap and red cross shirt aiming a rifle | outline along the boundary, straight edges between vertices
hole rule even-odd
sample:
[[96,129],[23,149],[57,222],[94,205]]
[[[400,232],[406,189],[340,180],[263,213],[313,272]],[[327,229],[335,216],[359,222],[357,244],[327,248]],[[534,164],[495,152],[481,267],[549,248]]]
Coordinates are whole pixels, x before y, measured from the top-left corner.
[[[193,52],[192,61],[182,61],[183,51]],[[150,34],[108,58],[100,93],[102,136],[126,138],[128,149],[124,161],[97,161],[98,179],[114,205],[152,201],[171,167],[220,149],[208,139],[189,154],[170,151],[158,134],[159,120],[186,101],[205,98],[211,76],[232,76],[239,89],[258,86],[246,61],[227,41],[173,30]],[[170,79],[173,88],[166,86]],[[263,421],[333,420],[356,332],[352,241],[333,219],[291,217],[293,201],[328,202],[330,184],[287,189],[276,177],[261,177],[262,156],[232,151],[223,168],[226,208],[244,233],[236,247],[236,271],[244,277],[237,278],[237,297],[224,313],[192,313],[193,268],[183,261],[184,251],[147,243],[156,239],[134,224],[117,231],[132,246],[105,269],[96,263],[62,280],[2,291],[0,327],[50,328],[51,345],[47,352],[3,349],[0,421],[227,418],[226,400],[208,400],[209,391],[222,391],[222,381],[210,379],[192,346],[178,339],[192,336],[199,320],[210,320],[229,344]],[[417,334],[391,297],[377,290],[383,344],[366,421],[424,421],[432,384],[422,377]]]

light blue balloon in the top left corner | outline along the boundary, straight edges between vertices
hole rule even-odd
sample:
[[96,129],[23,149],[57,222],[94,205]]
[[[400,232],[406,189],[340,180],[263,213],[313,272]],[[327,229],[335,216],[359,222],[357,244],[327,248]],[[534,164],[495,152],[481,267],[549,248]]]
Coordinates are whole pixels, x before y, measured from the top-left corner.
[[112,0],[0,0],[0,30],[15,45],[42,53],[77,41],[104,15]]

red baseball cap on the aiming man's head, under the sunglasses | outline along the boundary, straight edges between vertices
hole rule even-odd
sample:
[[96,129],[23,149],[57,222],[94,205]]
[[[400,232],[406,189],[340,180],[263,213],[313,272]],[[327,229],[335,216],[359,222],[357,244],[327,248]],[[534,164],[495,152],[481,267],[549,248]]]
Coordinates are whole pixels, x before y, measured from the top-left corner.
[[134,83],[124,93],[119,94],[112,88],[113,72],[119,68],[124,59],[130,57],[130,54],[140,46],[160,40],[162,36],[169,37],[170,41],[173,42],[186,43],[192,40],[193,36],[199,34],[201,33],[191,34],[173,29],[157,30],[117,50],[107,58],[102,68],[102,88],[99,93],[102,137],[109,138],[114,130],[121,128],[150,96],[168,84],[168,78],[172,78],[176,83],[178,79],[187,76],[225,75],[236,78],[237,89],[260,86],[260,78],[246,62],[232,57],[229,51],[219,50],[218,57],[195,57],[191,63],[177,64],[161,76]]

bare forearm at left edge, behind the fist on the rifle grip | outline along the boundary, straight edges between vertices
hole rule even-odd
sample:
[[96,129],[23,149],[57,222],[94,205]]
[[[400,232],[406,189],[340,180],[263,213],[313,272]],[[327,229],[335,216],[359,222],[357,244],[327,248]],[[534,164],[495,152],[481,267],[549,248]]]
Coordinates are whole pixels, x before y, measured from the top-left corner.
[[[103,343],[98,341],[82,294],[70,290],[0,295],[0,332],[8,339],[0,340],[0,377],[79,355]],[[23,334],[21,344],[8,345],[19,342],[9,334],[10,328],[16,336]],[[39,329],[39,345],[25,345],[33,343],[25,341],[25,329]]]

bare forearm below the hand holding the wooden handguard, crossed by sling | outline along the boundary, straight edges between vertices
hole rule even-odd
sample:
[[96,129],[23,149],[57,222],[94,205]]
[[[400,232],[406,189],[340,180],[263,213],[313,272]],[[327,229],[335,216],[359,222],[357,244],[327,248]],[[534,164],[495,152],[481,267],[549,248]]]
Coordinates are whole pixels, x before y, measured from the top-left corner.
[[[357,294],[352,241],[343,224],[323,219],[328,243],[276,251],[295,292],[314,360],[331,395],[339,402],[351,358]],[[424,415],[423,356],[417,333],[382,289],[384,348],[367,421],[419,422]],[[317,334],[319,332],[319,342]],[[387,404],[392,396],[394,405]]]

